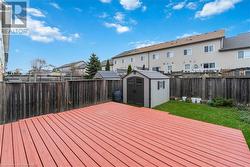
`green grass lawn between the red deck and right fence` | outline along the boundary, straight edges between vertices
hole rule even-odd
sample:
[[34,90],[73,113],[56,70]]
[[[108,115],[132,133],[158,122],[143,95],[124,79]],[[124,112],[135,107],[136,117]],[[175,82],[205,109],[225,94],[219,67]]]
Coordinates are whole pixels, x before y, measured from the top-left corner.
[[250,148],[250,124],[240,120],[240,113],[235,108],[216,108],[206,104],[192,104],[170,101],[155,107],[157,110],[167,111],[173,115],[200,120],[242,130],[248,147]]

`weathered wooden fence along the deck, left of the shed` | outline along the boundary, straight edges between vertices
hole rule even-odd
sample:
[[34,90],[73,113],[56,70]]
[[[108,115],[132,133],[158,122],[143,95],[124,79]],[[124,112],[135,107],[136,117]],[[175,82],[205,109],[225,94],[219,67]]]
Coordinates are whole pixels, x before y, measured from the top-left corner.
[[121,81],[0,83],[0,123],[109,101]]

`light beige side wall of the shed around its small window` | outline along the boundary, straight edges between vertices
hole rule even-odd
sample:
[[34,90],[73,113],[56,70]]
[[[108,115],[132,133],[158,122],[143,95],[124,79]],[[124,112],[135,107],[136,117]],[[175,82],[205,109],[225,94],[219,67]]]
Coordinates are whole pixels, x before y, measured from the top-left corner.
[[[165,81],[165,89],[158,90],[158,81]],[[151,80],[151,107],[169,101],[169,79]]]

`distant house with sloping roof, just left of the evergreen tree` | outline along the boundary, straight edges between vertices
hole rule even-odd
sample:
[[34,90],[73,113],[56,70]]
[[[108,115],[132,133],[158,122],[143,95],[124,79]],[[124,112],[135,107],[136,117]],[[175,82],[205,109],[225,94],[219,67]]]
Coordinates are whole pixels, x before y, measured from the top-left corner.
[[54,71],[59,71],[65,75],[83,76],[86,75],[86,66],[85,61],[77,61],[57,67]]

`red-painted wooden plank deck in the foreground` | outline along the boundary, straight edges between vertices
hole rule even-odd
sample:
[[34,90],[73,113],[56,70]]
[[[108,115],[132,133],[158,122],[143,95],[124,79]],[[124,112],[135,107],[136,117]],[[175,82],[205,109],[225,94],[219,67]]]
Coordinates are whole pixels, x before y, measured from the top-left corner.
[[239,130],[105,103],[0,126],[1,166],[250,166]]

